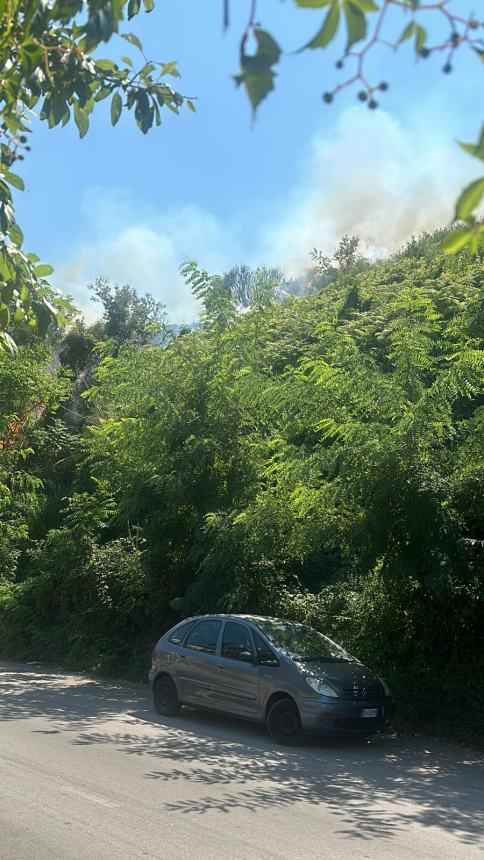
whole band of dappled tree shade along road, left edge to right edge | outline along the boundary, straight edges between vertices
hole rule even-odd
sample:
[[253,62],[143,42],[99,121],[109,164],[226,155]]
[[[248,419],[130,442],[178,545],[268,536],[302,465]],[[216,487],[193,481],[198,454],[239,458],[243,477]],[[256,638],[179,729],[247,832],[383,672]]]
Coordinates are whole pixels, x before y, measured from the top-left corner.
[[469,846],[482,839],[484,765],[475,751],[392,737],[275,747],[263,726],[222,715],[183,709],[176,719],[161,718],[141,685],[3,665],[0,721],[47,718],[41,732],[68,731],[76,746],[142,757],[145,779],[173,786],[162,811],[255,814],[324,804],[352,840],[390,838],[415,824]]

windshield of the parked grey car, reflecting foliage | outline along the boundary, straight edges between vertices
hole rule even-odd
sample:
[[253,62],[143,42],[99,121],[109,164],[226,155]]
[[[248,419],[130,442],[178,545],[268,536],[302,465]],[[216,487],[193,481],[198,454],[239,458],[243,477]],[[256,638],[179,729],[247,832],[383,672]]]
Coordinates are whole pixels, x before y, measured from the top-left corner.
[[291,621],[258,621],[258,627],[270,642],[286,657],[299,660],[302,663],[354,663],[354,657],[348,654],[331,639],[306,627]]

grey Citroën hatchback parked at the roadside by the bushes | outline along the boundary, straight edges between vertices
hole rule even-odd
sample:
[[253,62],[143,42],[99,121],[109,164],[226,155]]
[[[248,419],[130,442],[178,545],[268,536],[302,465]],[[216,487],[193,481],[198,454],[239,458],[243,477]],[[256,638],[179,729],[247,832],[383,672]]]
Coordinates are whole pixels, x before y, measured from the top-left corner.
[[369,735],[395,713],[381,678],[331,639],[293,621],[202,615],[161,637],[149,673],[155,708],[181,705],[266,723],[274,740]]

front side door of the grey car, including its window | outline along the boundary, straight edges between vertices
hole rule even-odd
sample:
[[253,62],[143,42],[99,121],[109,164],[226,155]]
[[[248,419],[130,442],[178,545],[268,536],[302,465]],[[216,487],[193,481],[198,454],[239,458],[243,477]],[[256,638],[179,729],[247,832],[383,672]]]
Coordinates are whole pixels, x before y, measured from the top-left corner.
[[216,701],[221,709],[241,717],[259,716],[259,666],[249,628],[226,621],[215,676]]

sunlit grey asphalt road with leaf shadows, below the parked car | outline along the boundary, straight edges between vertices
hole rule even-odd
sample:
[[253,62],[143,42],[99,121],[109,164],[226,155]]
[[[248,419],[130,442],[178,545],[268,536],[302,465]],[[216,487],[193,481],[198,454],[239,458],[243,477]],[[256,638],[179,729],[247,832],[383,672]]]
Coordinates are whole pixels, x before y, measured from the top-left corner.
[[383,738],[275,747],[158,717],[142,685],[0,662],[2,860],[484,856],[478,752]]

